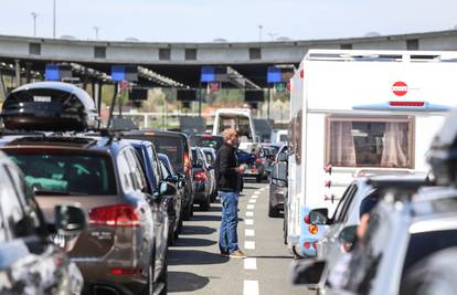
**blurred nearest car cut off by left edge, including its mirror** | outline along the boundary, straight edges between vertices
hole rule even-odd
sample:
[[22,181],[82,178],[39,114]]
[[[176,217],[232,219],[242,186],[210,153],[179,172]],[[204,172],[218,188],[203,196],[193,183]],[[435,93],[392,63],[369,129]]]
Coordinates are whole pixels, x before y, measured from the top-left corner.
[[50,234],[77,234],[86,217],[78,208],[57,206],[50,232],[23,179],[0,152],[0,294],[79,294],[83,276]]

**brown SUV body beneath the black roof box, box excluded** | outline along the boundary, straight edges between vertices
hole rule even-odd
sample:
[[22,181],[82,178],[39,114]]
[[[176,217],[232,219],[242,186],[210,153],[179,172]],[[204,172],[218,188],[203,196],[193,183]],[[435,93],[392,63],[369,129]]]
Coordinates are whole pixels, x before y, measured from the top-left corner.
[[[91,293],[166,292],[155,280],[155,223],[142,167],[134,147],[114,137],[3,137],[2,150],[22,169],[45,220],[55,204],[83,208],[89,228],[65,240]],[[167,194],[169,187],[160,187]]]

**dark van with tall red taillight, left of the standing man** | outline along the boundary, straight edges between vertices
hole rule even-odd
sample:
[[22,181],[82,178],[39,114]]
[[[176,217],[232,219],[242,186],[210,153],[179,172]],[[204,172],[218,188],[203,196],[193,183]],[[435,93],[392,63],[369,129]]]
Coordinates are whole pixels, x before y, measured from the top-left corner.
[[192,154],[185,134],[157,130],[131,130],[124,133],[124,138],[151,141],[157,152],[164,154],[170,159],[173,170],[185,177],[184,198],[182,203],[182,218],[189,220],[193,209],[193,176]]

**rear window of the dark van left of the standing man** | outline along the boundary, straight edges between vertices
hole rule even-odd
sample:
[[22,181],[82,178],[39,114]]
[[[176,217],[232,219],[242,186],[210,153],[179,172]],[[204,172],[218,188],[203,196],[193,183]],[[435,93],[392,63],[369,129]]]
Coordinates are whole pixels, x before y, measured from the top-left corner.
[[183,140],[181,138],[155,135],[153,137],[148,137],[147,139],[156,146],[157,152],[167,155],[174,171],[181,173],[184,171],[184,151],[182,144]]

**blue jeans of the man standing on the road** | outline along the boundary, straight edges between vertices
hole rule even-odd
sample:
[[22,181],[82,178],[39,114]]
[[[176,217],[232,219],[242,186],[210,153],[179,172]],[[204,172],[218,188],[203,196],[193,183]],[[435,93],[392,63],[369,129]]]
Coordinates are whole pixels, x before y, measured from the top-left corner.
[[238,192],[219,191],[222,203],[222,220],[219,232],[219,249],[221,253],[232,253],[238,250]]

